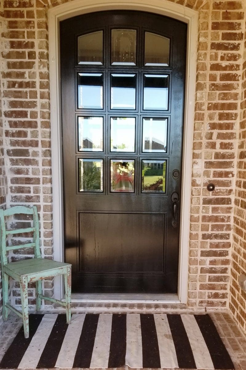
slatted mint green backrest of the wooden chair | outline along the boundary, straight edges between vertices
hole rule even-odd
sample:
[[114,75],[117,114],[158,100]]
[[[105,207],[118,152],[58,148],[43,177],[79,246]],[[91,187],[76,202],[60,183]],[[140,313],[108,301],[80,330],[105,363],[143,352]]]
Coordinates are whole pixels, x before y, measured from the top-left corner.
[[[22,229],[6,229],[6,220],[5,217],[17,215],[17,214],[24,214],[24,215],[33,215],[33,227],[30,228],[22,228]],[[7,235],[15,235],[21,233],[33,232],[33,242],[27,244],[19,244],[19,245],[6,245],[6,236]],[[33,206],[32,208],[28,208],[25,206],[14,206],[8,209],[0,209],[0,258],[1,258],[1,265],[2,268],[6,263],[8,263],[7,259],[7,252],[8,250],[20,249],[20,248],[34,248],[34,256],[35,258],[40,258],[40,248],[39,248],[39,221],[38,221],[38,211],[37,207]]]

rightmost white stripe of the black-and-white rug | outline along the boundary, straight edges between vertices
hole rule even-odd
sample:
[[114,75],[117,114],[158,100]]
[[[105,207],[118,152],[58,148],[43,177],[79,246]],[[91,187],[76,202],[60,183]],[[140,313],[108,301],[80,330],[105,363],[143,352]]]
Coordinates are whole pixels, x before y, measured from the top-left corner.
[[181,319],[188,335],[197,369],[214,369],[209,350],[194,315],[183,314]]

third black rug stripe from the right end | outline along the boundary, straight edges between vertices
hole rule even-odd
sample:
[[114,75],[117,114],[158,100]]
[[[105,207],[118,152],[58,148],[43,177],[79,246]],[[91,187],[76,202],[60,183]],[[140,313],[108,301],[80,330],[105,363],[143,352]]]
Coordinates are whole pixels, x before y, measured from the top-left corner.
[[155,320],[152,314],[140,314],[143,367],[160,368],[160,354]]

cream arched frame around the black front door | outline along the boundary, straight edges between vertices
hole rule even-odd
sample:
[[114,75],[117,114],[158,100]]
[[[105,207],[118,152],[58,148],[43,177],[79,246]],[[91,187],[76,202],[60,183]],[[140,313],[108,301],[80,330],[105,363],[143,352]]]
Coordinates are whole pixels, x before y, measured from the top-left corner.
[[[187,23],[187,64],[184,104],[183,159],[180,209],[180,245],[178,300],[188,299],[188,254],[191,206],[191,174],[195,110],[195,80],[197,63],[198,11],[167,0],[74,0],[48,10],[49,72],[51,101],[51,153],[53,187],[53,251],[54,259],[64,261],[63,237],[63,174],[62,174],[62,122],[60,88],[59,22],[78,15],[103,10],[139,10],[160,14]],[[54,191],[55,190],[55,191]],[[186,194],[186,196],[185,196]],[[187,196],[189,194],[190,196]],[[63,297],[62,279],[55,278],[54,294]],[[76,300],[77,301],[77,300]],[[170,302],[170,299],[168,300]]]

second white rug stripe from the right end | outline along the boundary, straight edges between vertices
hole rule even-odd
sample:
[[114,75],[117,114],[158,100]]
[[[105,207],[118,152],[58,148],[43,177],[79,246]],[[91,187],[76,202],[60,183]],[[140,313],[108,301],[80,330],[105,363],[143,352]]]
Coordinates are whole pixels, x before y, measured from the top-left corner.
[[159,344],[160,367],[179,367],[167,315],[154,314],[154,318]]

